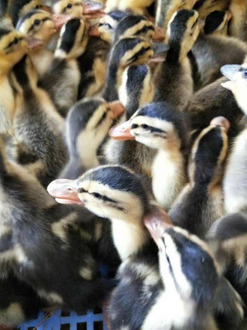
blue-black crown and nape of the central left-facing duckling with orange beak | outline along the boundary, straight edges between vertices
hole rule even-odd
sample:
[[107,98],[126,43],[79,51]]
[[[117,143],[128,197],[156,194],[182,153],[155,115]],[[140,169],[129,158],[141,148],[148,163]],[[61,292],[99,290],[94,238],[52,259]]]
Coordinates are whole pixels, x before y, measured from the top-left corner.
[[186,146],[186,128],[183,115],[166,102],[153,102],[144,105],[137,113],[137,116],[147,116],[171,122],[177,130],[181,140],[181,149]]

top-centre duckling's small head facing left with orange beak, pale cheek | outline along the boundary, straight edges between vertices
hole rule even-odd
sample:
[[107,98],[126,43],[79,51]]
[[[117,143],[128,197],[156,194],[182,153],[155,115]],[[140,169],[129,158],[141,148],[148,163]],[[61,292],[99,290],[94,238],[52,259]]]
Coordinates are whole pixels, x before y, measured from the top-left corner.
[[88,33],[92,37],[99,37],[100,39],[108,42],[113,42],[114,31],[118,22],[126,17],[128,14],[121,10],[114,10],[109,14],[100,18],[98,24],[91,26]]

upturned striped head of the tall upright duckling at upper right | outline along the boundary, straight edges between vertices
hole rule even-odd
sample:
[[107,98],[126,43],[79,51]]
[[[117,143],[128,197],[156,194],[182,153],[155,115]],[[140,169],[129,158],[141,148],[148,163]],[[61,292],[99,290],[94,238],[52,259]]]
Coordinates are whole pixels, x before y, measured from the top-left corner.
[[192,49],[200,32],[198,12],[181,9],[177,11],[168,23],[166,43],[172,50],[172,57],[185,58]]

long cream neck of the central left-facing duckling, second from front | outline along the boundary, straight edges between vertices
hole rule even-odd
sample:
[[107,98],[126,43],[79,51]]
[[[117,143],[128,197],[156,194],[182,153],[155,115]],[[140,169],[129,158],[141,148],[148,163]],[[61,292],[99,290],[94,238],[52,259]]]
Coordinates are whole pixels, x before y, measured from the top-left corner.
[[152,165],[152,190],[157,202],[166,211],[185,183],[185,160],[180,150],[160,149]]

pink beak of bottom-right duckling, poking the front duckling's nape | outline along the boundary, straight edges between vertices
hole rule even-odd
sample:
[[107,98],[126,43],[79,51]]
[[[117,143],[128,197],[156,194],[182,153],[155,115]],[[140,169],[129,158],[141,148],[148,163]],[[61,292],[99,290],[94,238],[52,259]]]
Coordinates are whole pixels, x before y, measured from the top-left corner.
[[144,216],[143,221],[157,245],[159,240],[163,237],[165,230],[173,226],[168,214],[161,207],[156,205],[151,206],[150,212]]

